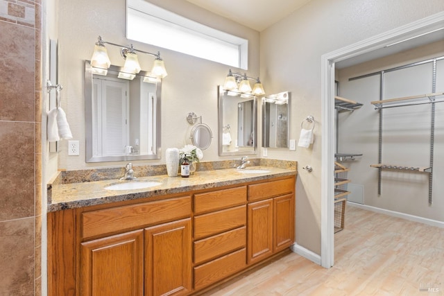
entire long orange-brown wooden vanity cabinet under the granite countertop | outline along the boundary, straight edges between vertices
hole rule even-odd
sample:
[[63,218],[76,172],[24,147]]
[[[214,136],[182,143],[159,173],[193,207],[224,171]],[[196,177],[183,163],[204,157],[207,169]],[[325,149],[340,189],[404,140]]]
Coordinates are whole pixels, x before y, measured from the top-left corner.
[[48,214],[55,295],[190,295],[294,241],[295,176]]

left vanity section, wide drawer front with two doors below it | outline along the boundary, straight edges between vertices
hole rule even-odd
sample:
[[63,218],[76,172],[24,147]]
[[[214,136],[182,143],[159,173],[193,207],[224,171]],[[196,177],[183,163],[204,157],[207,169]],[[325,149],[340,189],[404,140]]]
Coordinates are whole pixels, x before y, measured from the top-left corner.
[[[80,218],[80,295],[191,292],[191,196],[85,211]],[[128,228],[138,229],[108,235]],[[96,236],[103,237],[89,240]]]

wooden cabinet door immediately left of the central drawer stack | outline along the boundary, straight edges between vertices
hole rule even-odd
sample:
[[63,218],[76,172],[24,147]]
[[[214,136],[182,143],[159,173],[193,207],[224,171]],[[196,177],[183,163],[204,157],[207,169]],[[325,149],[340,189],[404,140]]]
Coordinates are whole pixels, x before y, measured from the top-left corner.
[[145,229],[145,295],[191,291],[191,219]]

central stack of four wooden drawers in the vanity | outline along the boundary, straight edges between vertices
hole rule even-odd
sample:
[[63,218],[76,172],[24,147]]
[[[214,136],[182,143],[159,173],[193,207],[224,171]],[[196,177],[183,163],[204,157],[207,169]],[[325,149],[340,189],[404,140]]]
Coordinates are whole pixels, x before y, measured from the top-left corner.
[[247,186],[194,195],[194,289],[246,267]]

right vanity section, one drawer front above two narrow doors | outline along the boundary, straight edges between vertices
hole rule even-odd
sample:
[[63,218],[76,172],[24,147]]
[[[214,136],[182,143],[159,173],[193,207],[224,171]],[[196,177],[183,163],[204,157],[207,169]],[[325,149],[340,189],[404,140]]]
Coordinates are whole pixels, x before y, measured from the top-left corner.
[[294,178],[248,185],[248,264],[294,242]]

